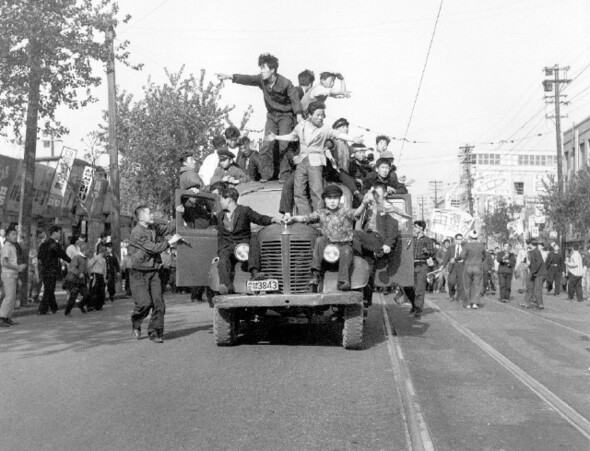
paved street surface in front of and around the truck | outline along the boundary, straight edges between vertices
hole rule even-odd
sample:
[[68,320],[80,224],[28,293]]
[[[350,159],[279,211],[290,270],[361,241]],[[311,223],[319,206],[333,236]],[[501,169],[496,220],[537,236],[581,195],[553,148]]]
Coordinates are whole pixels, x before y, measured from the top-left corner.
[[300,325],[218,348],[188,295],[162,345],[132,338],[130,300],[21,317],[0,330],[0,449],[590,449],[590,308],[564,299],[436,295],[416,321],[378,297],[360,352]]

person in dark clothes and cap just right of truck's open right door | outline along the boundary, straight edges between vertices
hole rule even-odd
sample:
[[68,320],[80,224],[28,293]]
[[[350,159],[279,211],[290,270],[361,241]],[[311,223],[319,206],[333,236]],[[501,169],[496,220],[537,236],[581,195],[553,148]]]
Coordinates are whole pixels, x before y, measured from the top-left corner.
[[435,252],[432,240],[426,236],[425,231],[425,221],[414,221],[414,286],[403,288],[407,298],[412,303],[410,314],[414,314],[417,319],[422,317],[428,264]]

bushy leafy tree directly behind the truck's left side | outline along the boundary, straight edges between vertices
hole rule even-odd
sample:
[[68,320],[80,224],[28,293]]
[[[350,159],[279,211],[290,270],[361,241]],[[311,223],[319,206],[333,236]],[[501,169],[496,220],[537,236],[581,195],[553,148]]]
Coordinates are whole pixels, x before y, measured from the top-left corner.
[[[205,71],[197,78],[166,70],[167,82],[148,81],[143,99],[123,92],[118,96],[118,139],[121,160],[122,205],[130,211],[140,203],[168,215],[174,213],[180,154],[194,151],[200,164],[211,139],[223,134],[233,106],[220,106],[221,83],[205,83]],[[244,112],[243,129],[252,108]],[[103,127],[103,136],[105,127]],[[133,206],[131,206],[132,204]]]

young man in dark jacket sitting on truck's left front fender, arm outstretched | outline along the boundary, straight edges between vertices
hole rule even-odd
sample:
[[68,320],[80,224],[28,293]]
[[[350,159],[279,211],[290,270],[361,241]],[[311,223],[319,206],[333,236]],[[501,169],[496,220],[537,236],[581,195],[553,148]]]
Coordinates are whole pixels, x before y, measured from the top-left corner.
[[266,226],[273,222],[280,224],[280,218],[261,215],[250,207],[238,205],[240,195],[233,187],[221,191],[221,211],[217,215],[217,255],[219,261],[219,292],[228,294],[233,291],[234,267],[238,262],[234,251],[240,243],[250,245],[248,254],[248,270],[255,272],[260,269],[260,246],[258,240],[252,240],[250,226],[252,223]]

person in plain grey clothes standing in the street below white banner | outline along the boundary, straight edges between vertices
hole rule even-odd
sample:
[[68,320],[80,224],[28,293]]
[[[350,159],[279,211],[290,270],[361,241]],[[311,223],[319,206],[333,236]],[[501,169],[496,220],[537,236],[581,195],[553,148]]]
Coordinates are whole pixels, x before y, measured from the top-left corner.
[[469,232],[469,242],[463,246],[459,258],[463,260],[463,285],[465,287],[465,308],[478,309],[483,290],[484,263],[488,258],[485,245],[477,240],[477,230]]

